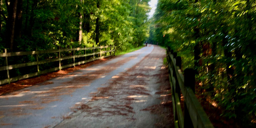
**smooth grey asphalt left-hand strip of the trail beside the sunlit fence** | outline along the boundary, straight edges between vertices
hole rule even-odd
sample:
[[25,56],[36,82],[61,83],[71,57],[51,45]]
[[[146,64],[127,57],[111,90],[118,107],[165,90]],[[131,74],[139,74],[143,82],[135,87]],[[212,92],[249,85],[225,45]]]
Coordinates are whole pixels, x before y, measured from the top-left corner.
[[107,87],[109,80],[132,68],[153,49],[153,45],[143,47],[106,63],[0,96],[0,127],[44,128],[62,123],[79,104],[91,101],[98,88]]

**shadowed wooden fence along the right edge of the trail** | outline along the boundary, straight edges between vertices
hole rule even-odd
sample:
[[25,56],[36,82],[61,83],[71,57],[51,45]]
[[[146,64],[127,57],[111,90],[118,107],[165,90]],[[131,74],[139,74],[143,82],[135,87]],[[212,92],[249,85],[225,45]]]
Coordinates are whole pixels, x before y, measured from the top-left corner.
[[[170,48],[167,48],[167,61],[175,128],[213,128],[195,95],[195,70],[187,68],[183,76],[181,57]],[[184,111],[180,104],[181,93],[184,98]]]

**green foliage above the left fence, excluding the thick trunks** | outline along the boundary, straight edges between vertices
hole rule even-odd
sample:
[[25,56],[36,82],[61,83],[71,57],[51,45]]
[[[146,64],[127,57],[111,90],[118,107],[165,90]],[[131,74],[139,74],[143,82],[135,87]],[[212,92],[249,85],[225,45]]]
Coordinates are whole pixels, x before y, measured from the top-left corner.
[[[22,37],[15,37],[15,51],[67,48],[95,44],[96,18],[100,17],[100,43],[115,44],[117,49],[132,44],[137,47],[147,38],[149,0],[23,0]],[[97,8],[97,3],[100,3]],[[3,3],[4,4],[4,3]],[[8,18],[6,6],[1,11]],[[82,19],[81,17],[82,16]],[[87,17],[85,17],[87,16]],[[0,48],[8,48],[6,22],[1,18]],[[82,21],[81,21],[82,20]],[[78,42],[82,22],[83,40]],[[90,28],[88,31],[87,28]],[[19,43],[18,43],[19,42]],[[21,43],[20,43],[21,42]],[[27,46],[30,46],[28,48]]]

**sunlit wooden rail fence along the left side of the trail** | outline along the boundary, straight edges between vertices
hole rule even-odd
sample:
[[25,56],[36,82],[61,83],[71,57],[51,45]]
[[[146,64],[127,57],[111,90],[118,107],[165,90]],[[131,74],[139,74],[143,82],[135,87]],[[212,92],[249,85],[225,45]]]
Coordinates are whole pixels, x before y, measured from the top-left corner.
[[[110,49],[107,51],[108,47]],[[89,49],[92,49],[92,53],[87,53],[86,54],[86,50],[89,50]],[[100,49],[100,52],[94,52],[95,49]],[[81,55],[75,55],[74,54],[75,53],[74,51],[80,51],[80,50],[84,50],[84,54],[81,54]],[[72,51],[73,55],[72,56],[61,57],[60,52],[68,52],[68,51]],[[54,52],[58,53],[58,58],[38,61],[38,54],[54,53]],[[107,55],[107,52],[109,52],[109,55]],[[105,55],[103,53],[105,53]],[[100,54],[100,56],[95,58],[96,54]],[[36,55],[36,61],[28,62],[28,63],[8,65],[8,57],[22,56],[22,55]],[[102,56],[102,55],[104,55],[104,56]],[[10,83],[10,82],[13,82],[13,81],[17,81],[17,80],[21,80],[21,79],[25,79],[25,78],[29,78],[29,77],[33,77],[33,76],[38,76],[38,75],[45,74],[45,73],[52,72],[52,71],[56,71],[56,70],[61,70],[62,68],[68,68],[68,67],[71,67],[71,66],[84,64],[86,62],[102,59],[102,58],[105,58],[105,57],[109,57],[111,55],[115,55],[115,46],[111,47],[111,45],[110,46],[106,46],[106,45],[105,46],[98,46],[98,47],[93,46],[93,47],[84,47],[84,48],[57,49],[57,50],[28,51],[28,52],[7,52],[7,50],[5,49],[4,53],[0,53],[0,57],[5,57],[6,66],[0,67],[0,71],[6,70],[8,78],[0,80],[0,85]],[[93,57],[92,57],[92,59],[86,60],[86,56],[93,56]],[[80,58],[80,57],[85,57],[85,60],[75,62],[75,58]],[[61,60],[67,60],[67,59],[73,59],[73,63],[67,64],[67,65],[61,65]],[[39,70],[39,64],[50,63],[50,62],[55,62],[55,61],[59,61],[59,67],[50,68],[50,69],[46,69],[46,70],[43,70],[43,71]],[[33,65],[37,65],[37,72],[10,78],[9,70],[14,69],[14,68],[33,66]]]

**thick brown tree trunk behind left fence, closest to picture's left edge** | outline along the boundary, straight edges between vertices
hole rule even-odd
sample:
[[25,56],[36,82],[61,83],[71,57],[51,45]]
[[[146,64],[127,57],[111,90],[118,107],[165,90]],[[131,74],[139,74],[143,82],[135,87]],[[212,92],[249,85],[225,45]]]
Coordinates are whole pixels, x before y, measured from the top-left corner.
[[16,20],[16,11],[17,11],[18,0],[10,1],[10,4],[7,6],[8,11],[8,22],[7,22],[7,42],[10,43],[11,52],[13,51],[13,41],[14,41],[14,28],[15,28],[15,20]]

